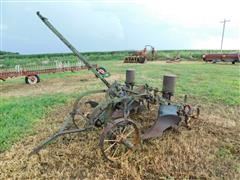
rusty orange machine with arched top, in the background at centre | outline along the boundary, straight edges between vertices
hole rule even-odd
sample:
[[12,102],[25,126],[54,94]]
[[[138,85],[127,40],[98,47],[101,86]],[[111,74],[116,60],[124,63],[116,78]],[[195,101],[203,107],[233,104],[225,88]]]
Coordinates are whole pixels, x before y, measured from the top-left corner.
[[153,61],[156,59],[156,54],[157,52],[153,46],[146,45],[142,51],[134,52],[132,55],[125,57],[124,63],[145,63],[147,61]]

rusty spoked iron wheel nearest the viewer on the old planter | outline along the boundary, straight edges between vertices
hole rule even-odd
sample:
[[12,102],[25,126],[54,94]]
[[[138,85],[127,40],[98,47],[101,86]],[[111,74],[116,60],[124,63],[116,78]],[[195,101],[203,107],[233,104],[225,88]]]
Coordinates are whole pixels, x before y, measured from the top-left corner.
[[140,144],[138,126],[132,120],[123,118],[105,127],[99,143],[103,156],[112,162],[127,158]]

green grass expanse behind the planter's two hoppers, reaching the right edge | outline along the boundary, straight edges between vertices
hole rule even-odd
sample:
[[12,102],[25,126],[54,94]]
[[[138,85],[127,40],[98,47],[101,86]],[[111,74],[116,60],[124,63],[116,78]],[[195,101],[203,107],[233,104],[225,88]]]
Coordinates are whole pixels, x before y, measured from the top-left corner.
[[176,96],[189,94],[203,103],[240,105],[240,66],[231,64],[123,64],[108,63],[110,72],[124,76],[127,68],[136,69],[137,82],[161,88],[164,74],[177,75]]

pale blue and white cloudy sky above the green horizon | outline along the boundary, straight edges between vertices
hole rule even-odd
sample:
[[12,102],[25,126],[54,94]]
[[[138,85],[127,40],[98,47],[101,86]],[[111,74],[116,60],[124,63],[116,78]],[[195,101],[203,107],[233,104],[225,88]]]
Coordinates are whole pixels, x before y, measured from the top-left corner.
[[80,51],[240,49],[239,0],[0,0],[0,50],[21,54],[69,52],[36,16]]

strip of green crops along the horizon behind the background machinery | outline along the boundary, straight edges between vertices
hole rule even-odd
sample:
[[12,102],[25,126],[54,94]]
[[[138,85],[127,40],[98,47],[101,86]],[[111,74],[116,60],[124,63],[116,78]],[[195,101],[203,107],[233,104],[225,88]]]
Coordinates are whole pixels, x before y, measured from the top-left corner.
[[[90,62],[109,60],[123,60],[125,56],[132,54],[134,51],[113,51],[113,52],[86,52],[82,53]],[[224,50],[223,53],[237,53],[236,50]],[[219,50],[158,50],[157,59],[175,58],[179,56],[187,60],[199,60],[205,53],[220,53]],[[44,65],[42,62],[53,63],[54,61],[73,63],[77,58],[72,53],[55,53],[55,54],[33,54],[19,55],[14,53],[0,53],[0,67],[14,68],[20,66],[39,66]]]

